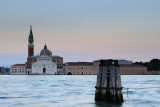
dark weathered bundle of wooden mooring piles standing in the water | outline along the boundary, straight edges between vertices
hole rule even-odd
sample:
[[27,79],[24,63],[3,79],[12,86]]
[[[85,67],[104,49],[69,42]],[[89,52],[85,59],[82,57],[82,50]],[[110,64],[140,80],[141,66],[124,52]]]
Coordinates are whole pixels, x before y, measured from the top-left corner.
[[97,75],[95,100],[122,103],[122,85],[118,60],[101,60]]

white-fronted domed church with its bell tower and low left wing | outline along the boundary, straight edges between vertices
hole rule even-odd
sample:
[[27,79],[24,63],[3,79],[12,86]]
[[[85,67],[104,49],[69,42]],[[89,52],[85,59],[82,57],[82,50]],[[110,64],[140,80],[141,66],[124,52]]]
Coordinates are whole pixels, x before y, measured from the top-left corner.
[[63,57],[52,55],[52,52],[44,48],[40,55],[34,55],[34,37],[32,26],[28,38],[28,57],[25,64],[14,64],[11,66],[11,75],[54,75],[63,72]]

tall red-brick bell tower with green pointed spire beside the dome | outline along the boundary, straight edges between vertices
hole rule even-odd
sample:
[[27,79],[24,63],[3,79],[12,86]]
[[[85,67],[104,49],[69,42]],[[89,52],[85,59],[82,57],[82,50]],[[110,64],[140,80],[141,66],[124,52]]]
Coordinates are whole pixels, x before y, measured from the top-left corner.
[[32,33],[32,26],[30,26],[30,33],[28,38],[28,57],[34,55],[34,38]]

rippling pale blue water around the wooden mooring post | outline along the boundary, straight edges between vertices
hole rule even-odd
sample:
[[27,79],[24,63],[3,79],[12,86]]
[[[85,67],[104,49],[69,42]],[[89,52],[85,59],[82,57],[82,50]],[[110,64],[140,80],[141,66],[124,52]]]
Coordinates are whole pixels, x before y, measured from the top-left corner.
[[[160,87],[160,76],[121,76],[127,88]],[[0,76],[0,107],[120,107],[95,103],[96,76]],[[160,89],[123,90],[122,107],[160,106]]]

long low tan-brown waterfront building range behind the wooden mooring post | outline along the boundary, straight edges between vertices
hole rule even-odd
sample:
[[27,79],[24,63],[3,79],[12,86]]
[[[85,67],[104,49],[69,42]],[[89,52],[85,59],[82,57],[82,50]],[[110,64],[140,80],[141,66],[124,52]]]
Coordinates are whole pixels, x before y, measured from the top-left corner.
[[[156,74],[147,70],[147,67],[135,65],[132,61],[118,60],[120,64],[120,73],[122,75],[149,75]],[[97,75],[99,71],[100,60],[93,62],[67,62],[64,65],[64,71],[70,75]],[[157,73],[158,74],[158,73]]]

